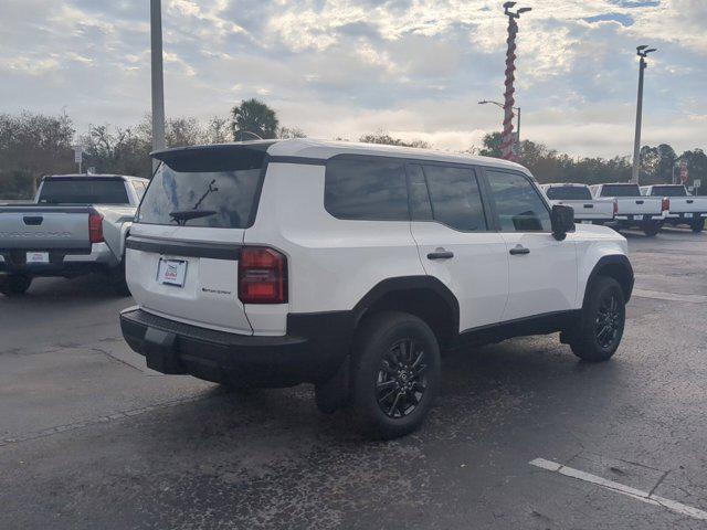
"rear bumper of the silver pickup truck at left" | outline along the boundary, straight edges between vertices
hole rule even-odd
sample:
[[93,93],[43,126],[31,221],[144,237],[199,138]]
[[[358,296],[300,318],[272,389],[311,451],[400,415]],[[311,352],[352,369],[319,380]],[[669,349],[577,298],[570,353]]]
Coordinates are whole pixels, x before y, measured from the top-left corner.
[[[28,264],[28,252],[48,252],[49,263]],[[28,276],[80,276],[117,267],[119,261],[106,243],[94,243],[89,252],[75,250],[0,248],[0,274]]]

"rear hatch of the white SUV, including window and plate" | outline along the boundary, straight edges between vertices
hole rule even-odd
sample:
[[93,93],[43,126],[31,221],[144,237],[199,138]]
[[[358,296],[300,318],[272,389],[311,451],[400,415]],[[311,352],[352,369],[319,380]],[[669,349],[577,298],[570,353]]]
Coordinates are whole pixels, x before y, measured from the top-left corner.
[[171,149],[143,198],[126,276],[140,307],[173,320],[252,335],[239,258],[272,142]]

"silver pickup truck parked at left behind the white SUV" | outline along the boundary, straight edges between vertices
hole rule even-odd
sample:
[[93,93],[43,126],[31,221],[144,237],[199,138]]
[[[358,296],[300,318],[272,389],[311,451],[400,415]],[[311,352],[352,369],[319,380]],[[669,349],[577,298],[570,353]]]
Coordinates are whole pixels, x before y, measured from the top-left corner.
[[44,177],[33,203],[0,205],[0,293],[24,294],[38,276],[105,273],[125,283],[125,239],[147,179],[117,174]]

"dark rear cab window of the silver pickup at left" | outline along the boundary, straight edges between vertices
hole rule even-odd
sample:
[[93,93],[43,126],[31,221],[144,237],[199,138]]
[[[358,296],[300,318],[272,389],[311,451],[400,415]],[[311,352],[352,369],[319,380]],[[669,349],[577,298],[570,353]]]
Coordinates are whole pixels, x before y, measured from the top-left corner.
[[42,204],[128,204],[123,180],[88,178],[46,179],[39,202]]

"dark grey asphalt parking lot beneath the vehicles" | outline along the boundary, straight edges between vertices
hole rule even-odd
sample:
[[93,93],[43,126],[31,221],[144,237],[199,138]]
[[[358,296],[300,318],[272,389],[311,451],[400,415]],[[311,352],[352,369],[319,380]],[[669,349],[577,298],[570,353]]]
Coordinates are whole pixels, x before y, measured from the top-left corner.
[[99,277],[0,297],[0,528],[707,528],[707,234],[629,240],[612,361],[557,335],[453,351],[388,443],[308,386],[147,370]]

